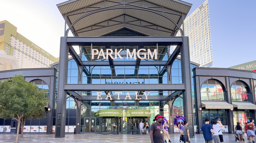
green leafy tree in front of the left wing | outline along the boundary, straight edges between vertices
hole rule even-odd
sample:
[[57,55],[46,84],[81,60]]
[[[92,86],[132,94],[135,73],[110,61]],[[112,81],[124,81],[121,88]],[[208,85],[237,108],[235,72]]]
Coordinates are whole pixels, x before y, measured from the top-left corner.
[[32,82],[24,80],[22,75],[15,74],[11,79],[0,82],[0,118],[14,118],[18,122],[16,143],[18,142],[21,123],[21,137],[27,118],[40,119],[45,115],[48,99],[46,91],[39,91]]

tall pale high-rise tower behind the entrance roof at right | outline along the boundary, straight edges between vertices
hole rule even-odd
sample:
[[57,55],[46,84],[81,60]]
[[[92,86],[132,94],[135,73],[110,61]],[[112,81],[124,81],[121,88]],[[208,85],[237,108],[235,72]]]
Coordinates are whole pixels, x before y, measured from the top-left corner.
[[[208,0],[184,20],[184,36],[189,37],[190,61],[213,67]],[[180,32],[176,36],[181,36]]]

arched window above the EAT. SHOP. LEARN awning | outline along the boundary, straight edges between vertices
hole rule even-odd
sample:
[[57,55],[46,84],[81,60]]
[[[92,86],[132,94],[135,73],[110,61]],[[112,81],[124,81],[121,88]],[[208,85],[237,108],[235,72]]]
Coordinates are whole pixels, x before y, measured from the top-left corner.
[[201,100],[225,100],[222,84],[214,79],[206,80],[201,87]]

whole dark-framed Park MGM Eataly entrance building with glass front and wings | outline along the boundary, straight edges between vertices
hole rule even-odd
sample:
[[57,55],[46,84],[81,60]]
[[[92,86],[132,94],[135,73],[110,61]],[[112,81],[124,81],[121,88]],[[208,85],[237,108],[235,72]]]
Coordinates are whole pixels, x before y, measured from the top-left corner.
[[[245,120],[255,119],[256,73],[199,68],[199,64],[190,62],[189,38],[175,37],[180,29],[177,26],[182,25],[179,19],[191,4],[176,0],[78,2],[57,5],[70,27],[66,34],[71,30],[75,37],[61,37],[60,60],[51,65],[54,73],[48,73],[51,83],[39,76],[47,76],[47,68],[37,69],[37,74],[31,69],[27,75],[20,72],[26,69],[0,71],[0,79],[20,73],[27,81],[41,79],[49,87],[47,122],[28,119],[26,133],[55,134],[57,138],[74,134],[74,130],[76,134],[138,134],[140,121],[151,125],[160,114],[169,120],[170,134],[179,134],[173,120],[184,116],[193,137],[202,134],[206,118],[221,118],[222,132],[230,134],[236,122],[244,125]],[[158,13],[150,9],[153,5],[166,9]],[[93,10],[84,15],[86,9]],[[180,18],[162,14],[171,10],[180,11]],[[98,15],[101,17],[92,18]],[[144,15],[148,17],[144,19]],[[173,25],[159,25],[159,21]],[[146,24],[152,27],[146,28]],[[164,35],[167,33],[170,35]],[[74,45],[80,47],[79,54]],[[169,53],[174,45],[178,47]],[[43,88],[43,81],[35,83]],[[5,128],[12,128],[11,121],[1,123],[0,132],[10,133]]]

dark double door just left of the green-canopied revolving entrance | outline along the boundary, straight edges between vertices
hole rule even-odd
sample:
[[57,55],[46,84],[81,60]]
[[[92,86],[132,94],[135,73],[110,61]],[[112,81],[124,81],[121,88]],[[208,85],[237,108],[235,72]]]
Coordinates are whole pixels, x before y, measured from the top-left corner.
[[96,133],[96,118],[84,118],[84,126],[81,126],[81,134]]

